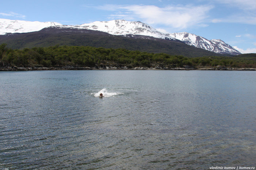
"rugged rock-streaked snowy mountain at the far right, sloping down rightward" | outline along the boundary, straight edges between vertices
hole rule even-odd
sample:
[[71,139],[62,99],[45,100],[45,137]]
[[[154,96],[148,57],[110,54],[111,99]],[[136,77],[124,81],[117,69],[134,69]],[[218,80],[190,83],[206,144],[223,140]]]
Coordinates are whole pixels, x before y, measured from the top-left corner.
[[185,42],[188,45],[195,46],[197,48],[205,49],[208,51],[212,51],[214,53],[231,54],[231,55],[241,54],[239,51],[237,51],[236,49],[234,49],[233,47],[226,44],[220,39],[208,40],[206,38],[203,38],[202,36],[198,36],[188,32],[176,32],[169,35],[173,36],[178,40]]

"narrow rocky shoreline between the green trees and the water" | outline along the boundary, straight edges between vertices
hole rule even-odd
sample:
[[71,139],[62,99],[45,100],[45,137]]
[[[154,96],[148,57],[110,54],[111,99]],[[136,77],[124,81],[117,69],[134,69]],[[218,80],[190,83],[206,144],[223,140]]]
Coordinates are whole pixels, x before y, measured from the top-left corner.
[[224,66],[207,68],[168,68],[168,67],[0,67],[0,71],[39,71],[39,70],[227,70],[227,71],[256,71],[256,68],[229,68]]

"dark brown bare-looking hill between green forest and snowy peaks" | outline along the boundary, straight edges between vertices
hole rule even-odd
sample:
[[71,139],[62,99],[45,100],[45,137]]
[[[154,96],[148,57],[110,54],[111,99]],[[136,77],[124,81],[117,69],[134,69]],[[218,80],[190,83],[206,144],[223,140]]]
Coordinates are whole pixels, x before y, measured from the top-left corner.
[[220,56],[211,51],[189,46],[180,40],[145,35],[112,35],[102,31],[54,26],[40,31],[0,35],[0,44],[12,49],[49,47],[55,45],[123,48],[148,53],[166,53],[185,57]]

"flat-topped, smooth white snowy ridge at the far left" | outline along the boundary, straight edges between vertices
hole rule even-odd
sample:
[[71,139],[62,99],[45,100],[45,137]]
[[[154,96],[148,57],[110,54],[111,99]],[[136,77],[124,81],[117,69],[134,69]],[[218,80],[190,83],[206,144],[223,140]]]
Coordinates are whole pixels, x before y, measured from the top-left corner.
[[31,22],[10,19],[0,19],[0,35],[6,33],[23,33],[42,30],[45,27],[62,25],[56,22]]

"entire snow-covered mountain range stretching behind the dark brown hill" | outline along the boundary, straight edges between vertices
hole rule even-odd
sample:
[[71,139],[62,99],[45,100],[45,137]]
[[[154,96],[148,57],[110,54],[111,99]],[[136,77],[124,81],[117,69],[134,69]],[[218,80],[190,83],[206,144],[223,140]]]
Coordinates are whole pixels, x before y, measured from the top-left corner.
[[161,38],[165,40],[182,42],[195,46],[197,48],[212,51],[218,54],[237,55],[241,54],[230,45],[222,40],[207,40],[201,36],[190,34],[187,32],[164,34],[157,31],[153,27],[142,22],[129,22],[126,20],[111,20],[105,22],[93,22],[89,24],[81,24],[75,26],[62,25],[55,22],[28,22],[19,20],[0,19],[0,35],[7,33],[23,33],[39,31],[46,27],[70,28],[70,29],[88,29],[95,31],[107,32],[112,35],[135,36],[136,38]]

